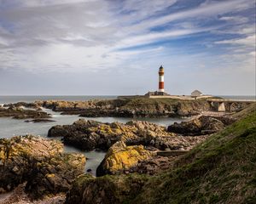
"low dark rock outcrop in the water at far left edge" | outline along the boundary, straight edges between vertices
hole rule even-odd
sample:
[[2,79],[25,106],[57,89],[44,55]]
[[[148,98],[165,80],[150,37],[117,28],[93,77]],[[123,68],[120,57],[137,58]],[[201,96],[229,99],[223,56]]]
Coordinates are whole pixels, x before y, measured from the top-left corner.
[[0,117],[11,116],[15,119],[26,119],[26,118],[49,118],[50,115],[44,111],[26,110],[21,107],[0,107]]

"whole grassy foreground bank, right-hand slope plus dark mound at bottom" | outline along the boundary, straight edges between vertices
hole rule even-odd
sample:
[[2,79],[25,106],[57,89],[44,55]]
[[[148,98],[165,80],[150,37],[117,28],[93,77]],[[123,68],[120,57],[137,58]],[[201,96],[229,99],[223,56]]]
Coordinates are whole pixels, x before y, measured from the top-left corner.
[[[96,194],[106,193],[104,203],[256,203],[255,110],[255,105],[248,107],[240,121],[173,161],[164,173],[85,178],[73,195],[94,186]],[[79,203],[77,198],[73,201]]]

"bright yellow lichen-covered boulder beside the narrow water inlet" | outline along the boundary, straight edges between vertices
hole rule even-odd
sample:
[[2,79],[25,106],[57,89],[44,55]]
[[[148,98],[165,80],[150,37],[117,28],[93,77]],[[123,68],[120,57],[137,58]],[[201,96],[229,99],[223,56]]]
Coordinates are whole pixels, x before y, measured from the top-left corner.
[[146,160],[152,155],[152,152],[145,150],[143,145],[126,146],[124,142],[119,141],[109,148],[102,163],[97,167],[96,175],[129,172],[139,161]]

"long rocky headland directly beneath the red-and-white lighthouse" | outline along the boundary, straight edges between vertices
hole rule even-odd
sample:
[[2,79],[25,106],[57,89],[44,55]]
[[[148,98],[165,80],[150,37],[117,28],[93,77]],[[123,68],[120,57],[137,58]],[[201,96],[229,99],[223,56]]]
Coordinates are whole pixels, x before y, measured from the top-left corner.
[[103,99],[90,101],[36,101],[38,106],[62,114],[78,114],[79,116],[122,116],[122,117],[170,117],[193,116],[201,111],[209,111],[207,100],[178,99]]

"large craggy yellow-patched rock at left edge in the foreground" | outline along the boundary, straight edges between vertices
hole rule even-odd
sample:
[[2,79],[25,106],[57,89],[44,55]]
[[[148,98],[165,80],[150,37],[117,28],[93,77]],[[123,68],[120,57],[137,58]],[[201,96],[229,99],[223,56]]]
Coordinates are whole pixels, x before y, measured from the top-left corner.
[[0,188],[13,190],[26,182],[32,198],[66,192],[84,173],[82,154],[63,153],[63,144],[31,135],[0,139]]

